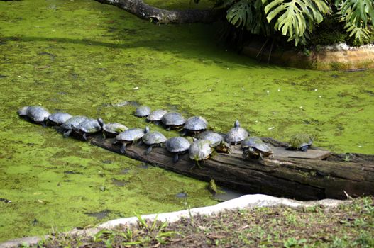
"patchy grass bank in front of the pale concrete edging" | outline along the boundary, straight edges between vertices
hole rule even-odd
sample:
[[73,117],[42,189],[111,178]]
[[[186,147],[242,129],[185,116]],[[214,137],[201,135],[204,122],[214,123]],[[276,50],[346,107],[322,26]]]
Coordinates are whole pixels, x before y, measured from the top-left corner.
[[195,215],[178,222],[143,220],[94,237],[59,234],[39,247],[374,247],[374,198],[336,208],[252,208]]

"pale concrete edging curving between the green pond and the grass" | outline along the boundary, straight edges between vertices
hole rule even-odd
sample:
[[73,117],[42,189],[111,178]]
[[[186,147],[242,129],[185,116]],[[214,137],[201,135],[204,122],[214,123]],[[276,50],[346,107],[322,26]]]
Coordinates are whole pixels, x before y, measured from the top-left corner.
[[[191,208],[187,210],[180,210],[176,212],[170,213],[160,213],[160,214],[150,214],[150,215],[141,215],[143,219],[147,220],[160,220],[162,222],[176,222],[180,220],[180,218],[189,218],[190,216],[194,215],[214,215],[217,213],[221,213],[224,210],[234,210],[234,209],[243,209],[243,208],[255,208],[255,207],[275,207],[275,206],[287,206],[290,208],[300,208],[300,207],[312,207],[316,205],[323,205],[324,207],[334,208],[338,205],[343,203],[349,203],[351,201],[341,201],[341,200],[334,200],[334,199],[324,199],[320,201],[296,201],[287,198],[278,198],[274,196],[267,196],[262,194],[255,194],[255,195],[246,195],[241,196],[229,201],[225,201],[223,203],[218,203],[216,205],[211,205],[208,207],[202,208]],[[111,229],[118,225],[132,225],[136,224],[138,221],[137,217],[130,217],[130,218],[121,218],[116,220],[109,220],[108,222],[104,222],[101,225],[98,225],[94,228],[84,229],[84,230],[72,230],[67,232],[70,235],[88,235],[92,236],[99,232],[102,229]],[[40,240],[48,238],[48,235],[43,237],[25,237],[21,239],[12,239],[7,242],[1,243],[1,248],[10,248],[10,247],[17,247],[18,244],[37,244]]]

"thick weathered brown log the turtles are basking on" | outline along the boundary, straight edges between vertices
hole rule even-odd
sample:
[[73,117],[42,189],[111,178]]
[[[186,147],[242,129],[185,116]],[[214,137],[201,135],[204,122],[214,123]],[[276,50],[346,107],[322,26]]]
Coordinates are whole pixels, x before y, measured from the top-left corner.
[[[92,145],[120,153],[119,145],[112,145],[113,141],[104,140],[101,135],[90,140]],[[243,193],[297,200],[346,199],[347,194],[353,197],[374,195],[373,155],[331,154],[314,148],[309,153],[296,152],[298,156],[295,156],[295,151],[285,149],[286,143],[271,138],[263,138],[263,141],[275,148],[273,158],[243,159],[236,147],[233,154],[214,154],[200,164],[202,168],[194,166],[188,154],[181,155],[180,160],[173,163],[172,154],[162,147],[145,154],[144,146],[131,145],[125,155],[196,179],[214,179],[216,184]],[[310,154],[317,155],[310,157]]]

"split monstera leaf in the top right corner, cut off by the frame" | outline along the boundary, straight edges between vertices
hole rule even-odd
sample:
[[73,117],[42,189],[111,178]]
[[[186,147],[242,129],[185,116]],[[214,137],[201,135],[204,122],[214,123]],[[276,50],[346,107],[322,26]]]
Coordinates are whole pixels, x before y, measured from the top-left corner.
[[341,21],[346,22],[349,36],[354,36],[356,40],[362,42],[363,38],[368,38],[368,23],[374,26],[374,1],[373,0],[343,0],[335,1],[339,9]]

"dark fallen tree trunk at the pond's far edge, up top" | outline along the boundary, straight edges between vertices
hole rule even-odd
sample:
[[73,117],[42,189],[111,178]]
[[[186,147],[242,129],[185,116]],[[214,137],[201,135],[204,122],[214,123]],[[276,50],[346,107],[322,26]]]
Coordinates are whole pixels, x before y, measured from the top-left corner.
[[223,15],[221,9],[165,10],[145,4],[142,0],[95,0],[101,4],[110,4],[132,13],[138,18],[153,23],[211,23]]

